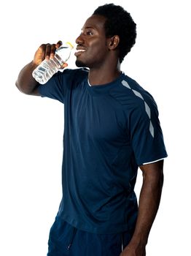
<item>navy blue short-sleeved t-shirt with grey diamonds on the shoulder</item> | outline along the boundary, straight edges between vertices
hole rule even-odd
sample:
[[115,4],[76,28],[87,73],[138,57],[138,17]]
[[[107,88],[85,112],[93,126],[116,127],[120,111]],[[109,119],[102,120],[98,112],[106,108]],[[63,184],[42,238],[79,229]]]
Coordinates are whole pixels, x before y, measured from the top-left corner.
[[86,69],[65,69],[39,86],[64,103],[62,184],[58,216],[91,233],[134,227],[139,165],[167,157],[152,96],[127,75],[90,86]]

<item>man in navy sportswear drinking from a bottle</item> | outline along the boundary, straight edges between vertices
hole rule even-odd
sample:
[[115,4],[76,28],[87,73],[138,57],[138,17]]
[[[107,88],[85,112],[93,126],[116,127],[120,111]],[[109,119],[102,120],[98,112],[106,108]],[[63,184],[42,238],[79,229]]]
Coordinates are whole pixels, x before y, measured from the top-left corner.
[[[81,68],[64,69],[43,86],[34,80],[34,68],[54,56],[58,42],[41,45],[17,78],[23,93],[64,103],[63,199],[48,256],[146,255],[167,154],[154,99],[120,71],[135,40],[130,14],[105,4],[76,39]],[[138,167],[143,173],[139,208]]]

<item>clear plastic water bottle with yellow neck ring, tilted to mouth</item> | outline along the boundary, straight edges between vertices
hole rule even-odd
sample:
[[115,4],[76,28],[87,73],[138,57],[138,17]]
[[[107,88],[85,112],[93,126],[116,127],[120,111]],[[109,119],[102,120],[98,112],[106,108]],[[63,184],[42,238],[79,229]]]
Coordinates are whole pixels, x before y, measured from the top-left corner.
[[66,42],[55,50],[55,56],[53,59],[44,59],[36,69],[34,69],[32,75],[34,79],[41,83],[47,83],[52,78],[58,69],[69,59],[73,45],[70,42]]

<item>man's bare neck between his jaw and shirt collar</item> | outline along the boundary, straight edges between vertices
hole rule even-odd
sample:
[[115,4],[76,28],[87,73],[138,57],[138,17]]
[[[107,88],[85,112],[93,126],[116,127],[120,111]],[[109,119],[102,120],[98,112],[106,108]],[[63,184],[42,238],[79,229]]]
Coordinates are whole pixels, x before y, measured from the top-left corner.
[[106,83],[111,83],[120,75],[120,63],[117,64],[117,67],[101,67],[101,68],[92,68],[90,69],[88,80],[91,86],[102,85]]

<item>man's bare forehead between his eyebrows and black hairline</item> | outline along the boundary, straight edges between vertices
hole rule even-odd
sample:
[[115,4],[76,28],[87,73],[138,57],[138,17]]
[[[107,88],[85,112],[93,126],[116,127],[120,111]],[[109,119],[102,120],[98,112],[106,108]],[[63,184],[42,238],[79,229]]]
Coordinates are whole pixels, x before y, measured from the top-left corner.
[[90,18],[87,18],[82,30],[87,29],[87,28],[92,28],[97,31],[104,31],[105,30],[104,29],[105,21],[106,21],[106,18],[104,16],[92,15],[92,16],[90,16]]

